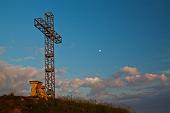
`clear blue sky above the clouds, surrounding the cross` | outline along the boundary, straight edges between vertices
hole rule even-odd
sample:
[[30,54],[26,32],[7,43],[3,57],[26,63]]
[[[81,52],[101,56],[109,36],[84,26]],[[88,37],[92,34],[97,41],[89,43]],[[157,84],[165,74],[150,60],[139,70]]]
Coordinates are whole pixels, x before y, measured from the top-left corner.
[[55,30],[63,37],[63,43],[55,45],[56,67],[66,71],[61,79],[108,79],[125,66],[139,69],[141,75],[162,74],[170,69],[169,4],[168,0],[1,0],[0,60],[42,69],[44,38],[33,19],[52,11]]

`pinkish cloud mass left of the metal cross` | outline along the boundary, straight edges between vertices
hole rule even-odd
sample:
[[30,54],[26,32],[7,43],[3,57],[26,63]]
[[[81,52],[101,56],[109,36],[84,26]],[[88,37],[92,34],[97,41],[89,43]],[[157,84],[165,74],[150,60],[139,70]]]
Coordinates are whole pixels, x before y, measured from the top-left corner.
[[43,72],[33,67],[21,67],[0,61],[0,94],[15,91],[21,93],[29,86],[29,80],[42,80]]

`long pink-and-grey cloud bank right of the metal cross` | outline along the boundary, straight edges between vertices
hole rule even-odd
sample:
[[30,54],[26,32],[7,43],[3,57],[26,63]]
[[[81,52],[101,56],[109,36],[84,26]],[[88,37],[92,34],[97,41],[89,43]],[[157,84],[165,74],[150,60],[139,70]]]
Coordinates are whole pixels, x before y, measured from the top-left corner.
[[[121,70],[122,71],[122,70]],[[124,76],[116,76],[115,78],[101,79],[97,76],[86,77],[83,79],[73,79],[73,80],[57,80],[57,88],[59,88],[58,94],[72,94],[73,96],[82,95],[81,88],[88,88],[85,91],[85,98],[99,99],[102,101],[108,101],[110,99],[114,100],[133,100],[146,95],[152,95],[159,92],[157,87],[165,87],[164,84],[167,83],[169,77],[161,74],[144,74],[140,75],[139,71],[135,67],[124,67]],[[159,80],[157,82],[155,80]],[[127,91],[127,87],[130,92]],[[134,90],[135,88],[141,90]],[[115,89],[119,89],[115,92]],[[130,99],[129,99],[129,98]]]

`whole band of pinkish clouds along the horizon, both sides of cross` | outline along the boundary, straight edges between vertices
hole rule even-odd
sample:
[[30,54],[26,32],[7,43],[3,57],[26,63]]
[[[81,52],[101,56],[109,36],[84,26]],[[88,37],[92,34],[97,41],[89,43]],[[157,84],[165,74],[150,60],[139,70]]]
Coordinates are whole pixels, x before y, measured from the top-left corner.
[[[65,73],[65,69],[56,70],[57,75]],[[0,61],[0,95],[10,92],[14,92],[16,95],[29,95],[29,80],[44,81],[43,70],[15,66]],[[167,73],[141,75],[136,67],[125,66],[108,79],[94,75],[88,75],[84,79],[56,79],[56,94],[106,102],[121,102],[161,93],[170,86],[169,82],[170,77]]]

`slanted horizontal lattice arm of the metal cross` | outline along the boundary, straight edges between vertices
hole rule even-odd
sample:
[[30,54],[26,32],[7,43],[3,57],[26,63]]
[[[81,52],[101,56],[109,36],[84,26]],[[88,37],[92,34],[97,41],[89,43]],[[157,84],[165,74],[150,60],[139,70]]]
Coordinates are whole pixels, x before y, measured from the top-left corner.
[[34,26],[38,28],[43,34],[45,34],[48,38],[54,41],[56,44],[62,42],[62,37],[56,33],[55,31],[51,31],[49,25],[42,18],[34,19]]

